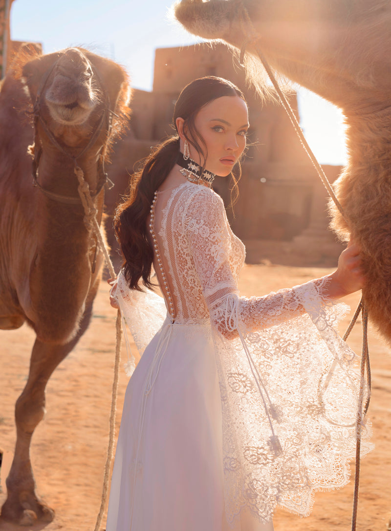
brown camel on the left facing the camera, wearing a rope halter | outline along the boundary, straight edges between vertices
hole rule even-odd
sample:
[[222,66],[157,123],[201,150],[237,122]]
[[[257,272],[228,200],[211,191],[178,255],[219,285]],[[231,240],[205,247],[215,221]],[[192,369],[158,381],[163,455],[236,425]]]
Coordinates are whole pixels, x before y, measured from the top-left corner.
[[54,517],[35,492],[30,441],[44,417],[46,383],[88,327],[101,277],[75,168],[100,220],[104,161],[128,121],[129,95],[123,68],[83,48],[39,56],[24,47],[1,87],[0,328],[28,323],[36,332],[1,511],[21,525]]

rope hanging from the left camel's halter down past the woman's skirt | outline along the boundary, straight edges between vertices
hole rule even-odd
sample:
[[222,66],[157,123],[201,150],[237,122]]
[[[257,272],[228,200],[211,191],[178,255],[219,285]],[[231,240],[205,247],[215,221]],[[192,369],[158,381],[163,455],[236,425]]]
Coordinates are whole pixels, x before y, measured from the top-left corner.
[[[107,267],[110,272],[110,277],[116,277],[116,272],[110,260],[109,252],[107,250],[106,243],[103,239],[98,221],[97,221],[97,212],[94,202],[90,193],[90,186],[84,179],[83,170],[75,164],[74,169],[77,180],[79,181],[79,186],[77,191],[79,192],[81,202],[84,208],[84,224],[88,230],[91,230],[98,242],[98,246],[103,252],[105,257]],[[116,420],[116,404],[117,404],[117,394],[118,394],[118,374],[119,374],[119,361],[120,361],[120,352],[121,352],[121,312],[117,312],[117,321],[116,321],[116,355],[114,362],[114,378],[112,382],[112,392],[111,392],[111,410],[110,410],[110,430],[109,430],[109,443],[107,448],[106,455],[106,464],[105,464],[105,475],[103,476],[103,488],[102,488],[102,498],[100,503],[100,509],[95,523],[94,531],[99,531],[100,524],[102,523],[103,512],[105,512],[107,493],[109,487],[109,475],[110,475],[110,466],[112,453],[114,448],[114,438],[115,438],[115,420]]]

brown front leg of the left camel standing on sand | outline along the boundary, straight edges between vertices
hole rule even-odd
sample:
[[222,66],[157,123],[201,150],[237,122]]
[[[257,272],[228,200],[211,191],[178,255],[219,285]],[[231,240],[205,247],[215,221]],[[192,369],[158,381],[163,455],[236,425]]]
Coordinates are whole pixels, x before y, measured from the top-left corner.
[[92,305],[86,311],[77,336],[66,345],[50,345],[36,339],[30,361],[29,378],[16,401],[16,445],[10,474],[6,479],[7,499],[1,516],[19,525],[29,526],[34,521],[51,521],[54,511],[39,500],[30,461],[30,442],[37,424],[45,413],[45,388],[57,365],[76,345],[88,327]]

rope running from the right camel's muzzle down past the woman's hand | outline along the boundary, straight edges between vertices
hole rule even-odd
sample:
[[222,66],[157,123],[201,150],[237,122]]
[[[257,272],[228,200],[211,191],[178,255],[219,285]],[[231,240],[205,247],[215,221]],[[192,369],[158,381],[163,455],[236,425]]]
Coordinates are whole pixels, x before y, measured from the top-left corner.
[[[250,19],[250,16],[248,14],[247,8],[244,6],[243,3],[241,3],[242,7],[242,30],[244,35],[248,35],[249,37],[244,41],[244,44],[242,45],[242,48],[240,50],[240,64],[244,63],[244,56],[246,52],[246,47],[251,44],[251,46],[254,48],[255,52],[257,53],[260,62],[263,64],[267,75],[269,76],[269,79],[271,80],[273,87],[275,88],[277,95],[279,96],[279,99],[281,101],[282,106],[285,109],[286,114],[288,114],[289,119],[294,127],[294,130],[296,131],[297,135],[299,136],[301,145],[307,152],[308,157],[310,158],[312,164],[315,166],[315,169],[317,170],[317,173],[322,180],[329,196],[334,201],[334,204],[336,205],[337,209],[340,211],[342,217],[347,220],[346,214],[341,206],[341,203],[336,198],[336,195],[334,193],[334,190],[331,186],[331,184],[328,182],[328,179],[326,177],[326,174],[324,173],[324,170],[322,166],[320,166],[319,162],[317,161],[314,153],[312,152],[311,148],[309,147],[309,144],[301,130],[301,127],[299,125],[299,122],[292,110],[292,107],[289,105],[288,100],[285,98],[282,90],[280,89],[279,84],[277,83],[275,76],[273,74],[273,71],[266,61],[265,56],[262,53],[262,50],[260,49],[257,42],[260,40],[260,35],[257,33],[257,31],[254,28],[253,22]],[[368,349],[368,311],[366,309],[366,306],[364,305],[363,297],[361,297],[361,301],[357,307],[357,310],[355,311],[355,314],[353,316],[353,319],[351,323],[349,324],[349,327],[347,328],[343,340],[345,341],[347,339],[347,336],[349,336],[355,322],[358,319],[359,314],[362,313],[362,352],[361,352],[361,361],[360,361],[360,375],[361,375],[361,382],[360,382],[360,389],[359,389],[359,400],[358,400],[358,410],[357,410],[357,421],[356,421],[356,452],[355,452],[355,470],[354,470],[354,494],[353,494],[353,510],[352,510],[352,527],[351,531],[355,531],[356,525],[357,525],[357,509],[358,509],[358,497],[359,497],[359,481],[360,481],[360,449],[361,449],[361,429],[362,424],[365,415],[367,414],[369,402],[370,402],[370,391],[371,391],[371,370],[370,370],[370,359],[369,359],[369,349]],[[368,397],[366,401],[366,405],[364,409],[362,408],[362,402],[363,402],[363,396],[364,396],[364,379],[365,379],[365,370],[367,369],[367,386],[368,386]]]

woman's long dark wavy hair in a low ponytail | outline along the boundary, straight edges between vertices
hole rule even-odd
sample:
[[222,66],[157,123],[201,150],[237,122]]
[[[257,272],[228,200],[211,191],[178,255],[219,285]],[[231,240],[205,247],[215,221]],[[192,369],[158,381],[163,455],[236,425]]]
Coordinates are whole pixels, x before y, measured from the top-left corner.
[[[176,127],[177,118],[184,119],[188,134],[191,135],[187,140],[200,157],[203,156],[203,169],[205,169],[207,148],[195,128],[194,119],[202,107],[222,96],[239,96],[246,101],[241,90],[230,81],[215,76],[205,76],[186,85],[175,104],[173,125]],[[125,278],[132,289],[141,290],[138,285],[140,278],[144,286],[152,287],[150,276],[153,250],[148,239],[146,220],[154,192],[175,166],[178,152],[178,135],[171,136],[158,145],[146,158],[143,168],[131,176],[129,196],[116,209],[114,229],[125,259],[123,264]],[[234,186],[237,186],[235,179]]]

